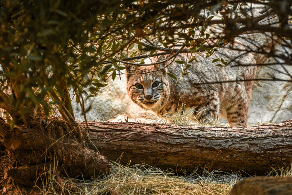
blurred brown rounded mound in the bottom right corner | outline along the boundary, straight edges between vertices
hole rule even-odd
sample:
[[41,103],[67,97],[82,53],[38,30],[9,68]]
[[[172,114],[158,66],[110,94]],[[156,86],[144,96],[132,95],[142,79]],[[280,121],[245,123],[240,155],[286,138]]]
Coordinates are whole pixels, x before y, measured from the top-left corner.
[[252,177],[235,184],[231,195],[291,195],[292,177]]

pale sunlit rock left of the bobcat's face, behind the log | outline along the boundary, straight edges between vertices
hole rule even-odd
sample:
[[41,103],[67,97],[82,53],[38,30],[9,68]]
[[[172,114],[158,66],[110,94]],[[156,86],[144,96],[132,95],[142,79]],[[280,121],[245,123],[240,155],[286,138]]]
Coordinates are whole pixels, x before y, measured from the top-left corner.
[[[109,120],[152,122],[157,118],[152,112],[143,110],[135,105],[126,92],[126,76],[117,75],[114,81],[108,80],[108,86],[101,88],[98,95],[85,100],[85,107],[91,105],[91,110],[86,114],[87,120]],[[75,118],[84,120],[81,114],[80,105],[75,101],[72,102]]]

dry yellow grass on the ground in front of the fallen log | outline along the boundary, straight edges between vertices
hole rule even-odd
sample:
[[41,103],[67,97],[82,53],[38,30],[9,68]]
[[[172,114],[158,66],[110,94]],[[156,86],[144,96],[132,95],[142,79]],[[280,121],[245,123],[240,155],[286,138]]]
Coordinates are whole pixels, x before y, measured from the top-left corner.
[[183,177],[148,165],[112,163],[112,174],[106,178],[84,181],[50,175],[40,190],[43,194],[88,195],[107,194],[109,189],[119,194],[229,194],[232,185],[242,179],[239,173],[195,171]]

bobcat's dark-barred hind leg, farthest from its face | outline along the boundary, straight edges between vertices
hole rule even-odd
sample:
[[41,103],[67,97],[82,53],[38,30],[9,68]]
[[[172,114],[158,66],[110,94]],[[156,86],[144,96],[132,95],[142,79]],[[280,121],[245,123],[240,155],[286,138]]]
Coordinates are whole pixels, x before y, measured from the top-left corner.
[[226,106],[227,122],[230,127],[247,126],[248,118],[248,97],[236,96],[233,101]]

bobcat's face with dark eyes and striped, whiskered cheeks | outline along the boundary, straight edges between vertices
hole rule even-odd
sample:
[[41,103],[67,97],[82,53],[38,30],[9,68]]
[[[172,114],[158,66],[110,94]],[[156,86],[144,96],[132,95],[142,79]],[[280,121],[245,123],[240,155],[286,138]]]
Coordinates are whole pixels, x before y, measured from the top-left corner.
[[[158,65],[141,66],[139,67],[140,70],[137,70],[126,65],[126,71],[127,73],[145,73],[145,71],[157,70],[158,67]],[[138,106],[152,111],[157,111],[163,107],[169,97],[169,84],[166,79],[166,70],[162,72],[162,81],[160,71],[127,75],[127,93],[130,99]]]

